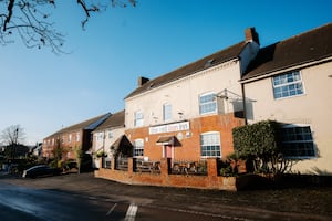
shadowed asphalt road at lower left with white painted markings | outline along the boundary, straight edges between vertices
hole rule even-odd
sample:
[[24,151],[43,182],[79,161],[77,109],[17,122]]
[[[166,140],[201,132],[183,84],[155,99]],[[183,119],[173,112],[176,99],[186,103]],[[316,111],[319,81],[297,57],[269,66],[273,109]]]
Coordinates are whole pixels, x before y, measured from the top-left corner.
[[[141,204],[128,200],[97,198],[58,190],[19,187],[1,182],[1,221],[77,220],[220,220],[226,215]],[[149,200],[148,200],[149,201]]]

